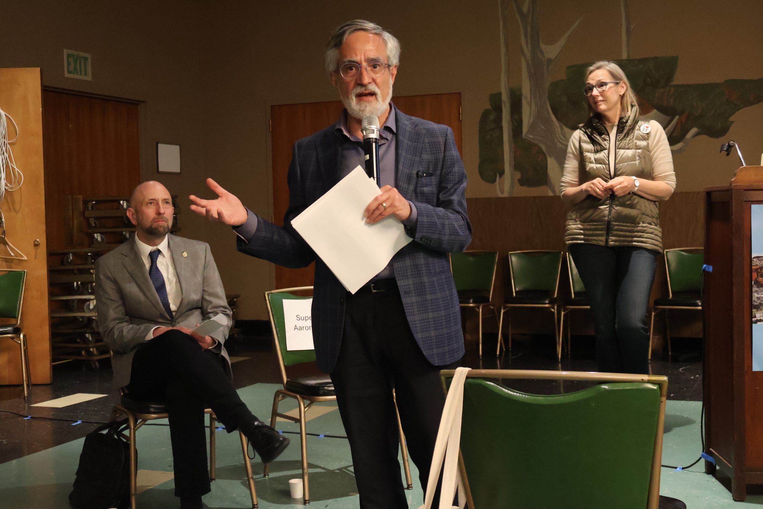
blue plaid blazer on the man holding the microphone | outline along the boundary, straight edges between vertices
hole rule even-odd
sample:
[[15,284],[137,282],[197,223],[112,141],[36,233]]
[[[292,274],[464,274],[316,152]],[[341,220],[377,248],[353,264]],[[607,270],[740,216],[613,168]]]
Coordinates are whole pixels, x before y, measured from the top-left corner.
[[[393,106],[394,107],[394,106]],[[464,354],[461,314],[448,253],[472,240],[466,214],[466,173],[450,127],[397,111],[395,185],[417,209],[414,242],[392,258],[395,279],[410,329],[434,366]],[[340,175],[341,140],[333,125],[294,145],[288,169],[289,207],[284,227],[257,217],[249,243],[237,238],[243,253],[289,268],[315,261],[313,340],[318,368],[330,373],[339,356],[347,292],[333,272],[291,227],[291,220],[324,195]]]

